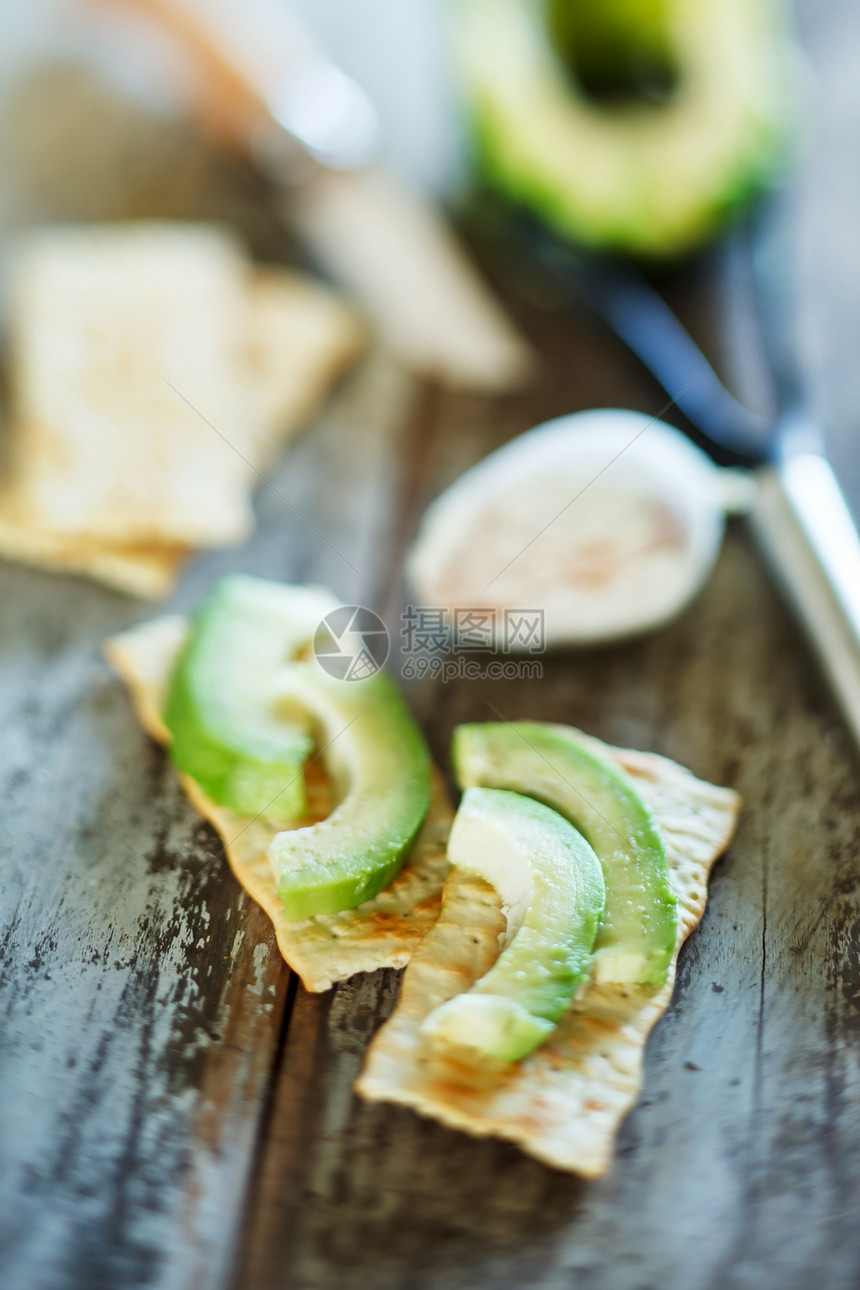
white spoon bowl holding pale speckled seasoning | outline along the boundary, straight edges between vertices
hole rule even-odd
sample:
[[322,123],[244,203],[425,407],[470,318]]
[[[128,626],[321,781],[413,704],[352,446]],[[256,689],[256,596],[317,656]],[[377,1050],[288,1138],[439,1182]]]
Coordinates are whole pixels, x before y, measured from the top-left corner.
[[420,605],[494,610],[498,648],[505,610],[542,610],[551,646],[621,640],[690,604],[717,559],[726,511],[747,508],[753,489],[752,476],[721,470],[643,413],[574,413],[442,493],[407,573]]

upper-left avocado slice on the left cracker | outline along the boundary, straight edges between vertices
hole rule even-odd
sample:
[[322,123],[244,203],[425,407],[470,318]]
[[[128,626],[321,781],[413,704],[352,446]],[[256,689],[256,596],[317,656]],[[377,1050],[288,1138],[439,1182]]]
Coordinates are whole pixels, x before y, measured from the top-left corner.
[[170,757],[213,801],[263,819],[307,814],[311,719],[279,711],[277,682],[335,606],[316,588],[236,575],[195,615],[164,719]]

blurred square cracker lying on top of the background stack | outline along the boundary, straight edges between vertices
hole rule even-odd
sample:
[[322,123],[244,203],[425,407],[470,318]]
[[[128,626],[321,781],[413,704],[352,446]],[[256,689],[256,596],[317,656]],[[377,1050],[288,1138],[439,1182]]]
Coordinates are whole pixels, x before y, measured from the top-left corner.
[[13,481],[32,528],[227,546],[253,528],[263,427],[242,360],[249,266],[201,224],[30,233],[10,286]]

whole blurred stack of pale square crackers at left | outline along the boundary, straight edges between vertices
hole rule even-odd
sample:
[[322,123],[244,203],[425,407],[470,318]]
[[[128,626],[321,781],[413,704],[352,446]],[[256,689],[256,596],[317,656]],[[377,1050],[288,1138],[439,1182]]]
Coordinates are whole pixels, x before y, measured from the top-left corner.
[[9,306],[0,555],[150,597],[250,534],[260,473],[362,346],[337,297],[206,224],[31,233]]

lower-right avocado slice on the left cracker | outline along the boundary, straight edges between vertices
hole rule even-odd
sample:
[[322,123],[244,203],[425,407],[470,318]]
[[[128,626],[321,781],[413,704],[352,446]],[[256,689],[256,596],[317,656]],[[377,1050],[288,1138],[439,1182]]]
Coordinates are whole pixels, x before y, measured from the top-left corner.
[[429,752],[384,672],[340,681],[309,659],[290,670],[284,694],[313,715],[339,797],[326,819],[269,848],[284,909],[288,918],[352,909],[402,868],[429,808]]

